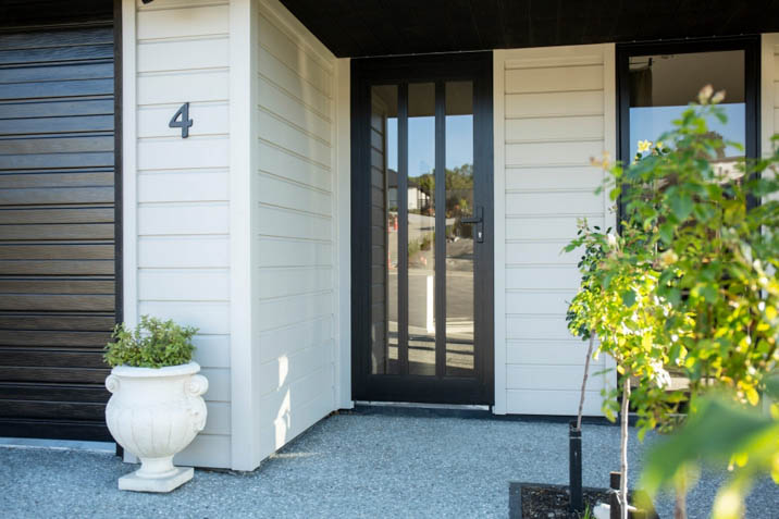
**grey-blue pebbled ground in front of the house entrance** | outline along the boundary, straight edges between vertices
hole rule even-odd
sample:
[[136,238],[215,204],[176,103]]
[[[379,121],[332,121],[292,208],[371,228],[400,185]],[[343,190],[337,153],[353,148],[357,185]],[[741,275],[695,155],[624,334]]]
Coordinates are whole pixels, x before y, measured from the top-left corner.
[[[255,472],[197,470],[168,495],[120,492],[116,479],[134,467],[109,454],[0,446],[0,516],[507,517],[509,481],[567,483],[567,434],[562,423],[337,415]],[[607,485],[618,440],[616,427],[585,425],[585,485]],[[642,450],[633,438],[633,467]],[[691,518],[708,517],[719,481],[704,475],[690,493]],[[779,518],[777,505],[779,487],[762,481],[747,517]],[[670,501],[658,511],[672,517]]]

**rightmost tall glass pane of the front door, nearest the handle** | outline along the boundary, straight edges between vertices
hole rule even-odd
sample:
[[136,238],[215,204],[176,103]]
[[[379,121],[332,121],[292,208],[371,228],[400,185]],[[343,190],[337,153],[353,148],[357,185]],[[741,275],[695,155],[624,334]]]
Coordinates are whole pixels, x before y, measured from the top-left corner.
[[446,374],[474,376],[473,84],[446,84]]

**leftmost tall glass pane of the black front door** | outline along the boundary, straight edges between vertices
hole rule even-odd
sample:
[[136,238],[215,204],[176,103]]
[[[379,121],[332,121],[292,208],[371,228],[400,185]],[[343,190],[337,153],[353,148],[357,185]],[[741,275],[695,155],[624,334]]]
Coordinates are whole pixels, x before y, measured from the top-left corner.
[[397,86],[371,87],[371,373],[398,373]]

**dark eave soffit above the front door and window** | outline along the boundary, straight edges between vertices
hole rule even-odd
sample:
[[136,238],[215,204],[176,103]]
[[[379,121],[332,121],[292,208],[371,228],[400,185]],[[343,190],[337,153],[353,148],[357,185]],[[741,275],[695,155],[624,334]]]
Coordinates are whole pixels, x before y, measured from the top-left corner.
[[779,32],[779,0],[281,0],[335,55]]

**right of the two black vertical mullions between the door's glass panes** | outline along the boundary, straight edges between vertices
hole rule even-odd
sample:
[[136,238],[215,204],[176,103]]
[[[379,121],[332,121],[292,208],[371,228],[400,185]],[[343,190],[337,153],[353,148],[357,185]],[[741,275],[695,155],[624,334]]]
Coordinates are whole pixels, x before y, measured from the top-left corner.
[[446,374],[446,90],[435,82],[435,375]]

